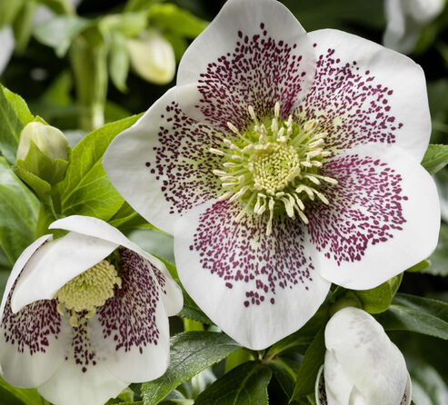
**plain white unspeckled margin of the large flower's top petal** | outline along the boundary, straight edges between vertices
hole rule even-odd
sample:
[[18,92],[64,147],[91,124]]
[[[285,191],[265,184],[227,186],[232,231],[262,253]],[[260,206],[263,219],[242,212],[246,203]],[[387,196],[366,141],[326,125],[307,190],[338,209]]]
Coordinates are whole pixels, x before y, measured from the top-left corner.
[[[193,107],[202,98],[196,88],[199,74],[206,72],[209,63],[214,63],[220,56],[234,51],[236,40],[239,39],[236,33],[239,30],[244,35],[252,36],[259,33],[260,23],[264,23],[265,29],[269,35],[274,36],[274,39],[297,44],[294,54],[301,54],[307,48],[312,49],[303,26],[280,2],[228,0],[212,23],[188,47],[179,64],[177,95],[179,104],[186,114],[198,121],[206,122],[199,109]],[[305,79],[302,94],[298,94],[296,103],[304,97],[314,79],[314,57],[302,63],[306,66],[304,70],[313,74],[309,74]]]

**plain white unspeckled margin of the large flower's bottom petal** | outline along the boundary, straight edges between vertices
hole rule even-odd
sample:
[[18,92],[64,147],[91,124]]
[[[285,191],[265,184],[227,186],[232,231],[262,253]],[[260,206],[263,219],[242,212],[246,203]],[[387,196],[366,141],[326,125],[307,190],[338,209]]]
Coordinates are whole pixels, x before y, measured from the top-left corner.
[[[227,288],[223,279],[202,268],[199,255],[189,249],[194,231],[200,226],[199,215],[210,205],[212,203],[194,207],[176,223],[177,272],[184,289],[220,329],[244,347],[265,349],[301,328],[324,301],[331,283],[315,272],[310,291],[307,291],[309,295],[304,297],[304,284],[299,282],[292,289],[279,288],[274,305],[264,301],[259,306],[244,308],[244,291],[248,286],[234,282],[232,289]],[[308,257],[306,251],[304,255]]]

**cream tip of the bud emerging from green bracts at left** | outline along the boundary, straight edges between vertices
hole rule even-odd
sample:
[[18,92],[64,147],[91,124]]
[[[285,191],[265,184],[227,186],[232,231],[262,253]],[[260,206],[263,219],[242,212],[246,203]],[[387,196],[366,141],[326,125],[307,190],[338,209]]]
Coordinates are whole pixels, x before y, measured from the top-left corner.
[[45,123],[28,123],[25,125],[17,149],[17,160],[25,160],[31,142],[45,153],[52,161],[67,160],[68,141],[65,134],[54,126]]

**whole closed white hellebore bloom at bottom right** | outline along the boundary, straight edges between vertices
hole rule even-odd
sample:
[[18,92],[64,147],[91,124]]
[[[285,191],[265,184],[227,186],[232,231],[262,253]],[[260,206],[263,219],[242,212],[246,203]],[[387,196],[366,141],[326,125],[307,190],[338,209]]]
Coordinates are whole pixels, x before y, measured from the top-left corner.
[[325,328],[325,362],[317,405],[409,405],[411,379],[403,354],[367,312],[346,307]]

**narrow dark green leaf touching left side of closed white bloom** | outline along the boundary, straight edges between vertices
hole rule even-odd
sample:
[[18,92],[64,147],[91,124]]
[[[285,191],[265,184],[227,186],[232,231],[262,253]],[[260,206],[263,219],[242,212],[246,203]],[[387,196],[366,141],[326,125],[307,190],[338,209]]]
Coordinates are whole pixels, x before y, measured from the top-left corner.
[[292,400],[300,400],[307,394],[314,392],[315,381],[320,367],[325,359],[325,325],[317,332],[314,341],[305,351],[304,360],[297,373],[297,380],[293,392]]

